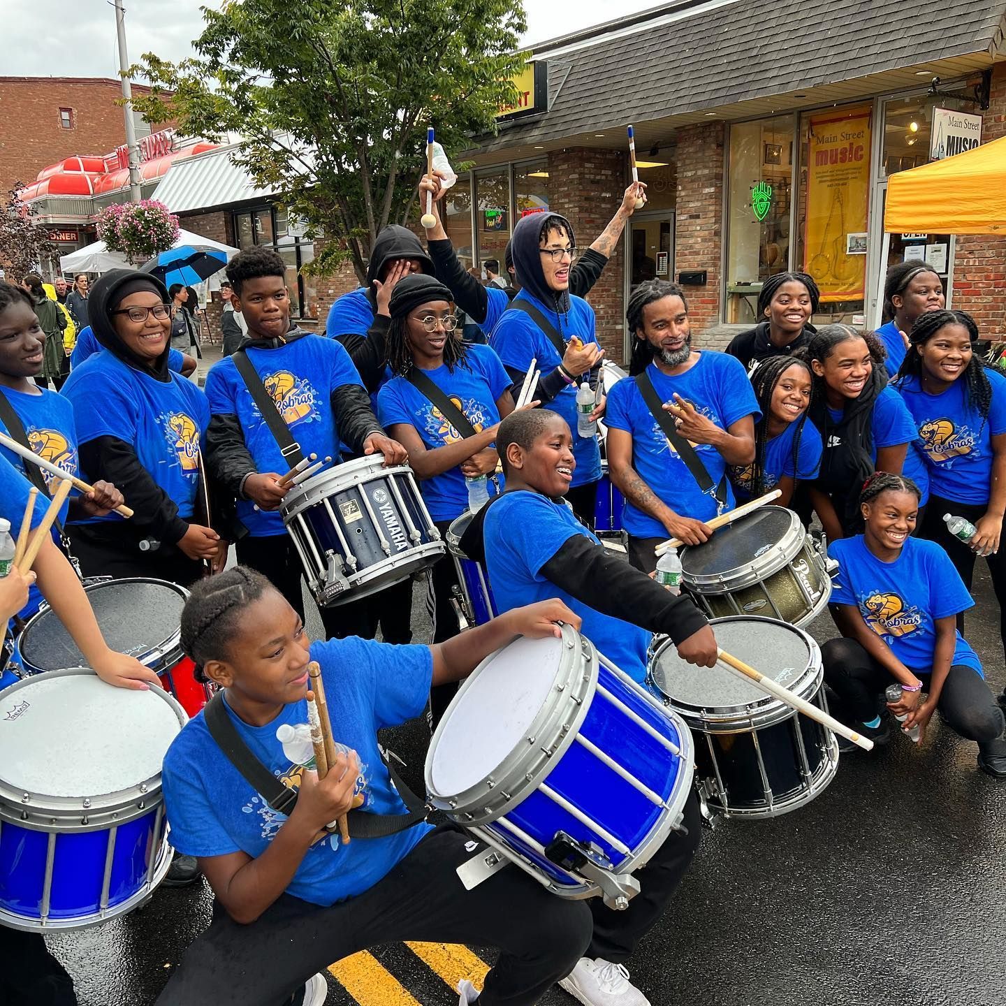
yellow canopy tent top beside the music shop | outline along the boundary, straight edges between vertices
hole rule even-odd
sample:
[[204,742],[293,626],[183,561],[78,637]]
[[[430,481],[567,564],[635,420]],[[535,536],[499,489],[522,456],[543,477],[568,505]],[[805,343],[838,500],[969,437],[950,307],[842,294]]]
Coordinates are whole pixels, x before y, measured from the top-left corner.
[[1006,234],[1006,137],[891,175],[883,228],[888,234]]

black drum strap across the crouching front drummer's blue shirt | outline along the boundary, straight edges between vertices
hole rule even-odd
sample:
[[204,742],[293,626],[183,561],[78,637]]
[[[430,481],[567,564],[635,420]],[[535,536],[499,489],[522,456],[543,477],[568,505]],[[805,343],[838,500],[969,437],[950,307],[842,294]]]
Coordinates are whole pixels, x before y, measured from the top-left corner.
[[[210,735],[227,756],[230,764],[244,777],[253,789],[259,793],[274,811],[290,817],[297,806],[298,791],[284,786],[252,752],[241,739],[227,710],[223,707],[223,693],[217,692],[202,710]],[[380,750],[381,762],[387,769],[394,788],[408,808],[407,814],[368,814],[366,811],[352,810],[346,815],[351,838],[386,838],[399,831],[411,828],[425,821],[431,808],[412,793],[401,781],[391,765],[393,752]]]

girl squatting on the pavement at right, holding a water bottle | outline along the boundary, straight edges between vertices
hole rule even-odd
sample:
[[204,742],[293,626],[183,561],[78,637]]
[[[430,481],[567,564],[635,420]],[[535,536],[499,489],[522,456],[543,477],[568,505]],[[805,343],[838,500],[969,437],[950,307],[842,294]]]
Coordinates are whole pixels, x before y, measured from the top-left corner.
[[[864,533],[831,543],[839,564],[831,612],[842,638],[821,648],[825,681],[874,743],[888,739],[887,709],[921,739],[939,708],[952,730],[978,742],[978,767],[1006,779],[1006,720],[956,626],[974,601],[947,553],[911,537],[919,499],[910,479],[876,472],[859,495]],[[892,682],[901,695],[885,709]]]

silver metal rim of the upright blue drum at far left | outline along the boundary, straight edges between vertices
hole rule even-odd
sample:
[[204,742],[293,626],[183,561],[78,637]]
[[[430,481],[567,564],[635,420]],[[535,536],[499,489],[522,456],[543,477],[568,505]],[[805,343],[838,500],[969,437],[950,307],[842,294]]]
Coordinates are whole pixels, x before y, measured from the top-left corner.
[[[32,674],[5,688],[4,697],[9,698],[18,689],[31,687],[42,679],[85,674],[98,677],[90,667],[67,667],[46,671],[43,674]],[[165,689],[151,688],[150,692],[167,703],[168,708],[178,719],[178,732],[181,733],[188,722],[188,714],[181,703]],[[0,776],[0,821],[32,831],[57,833],[104,831],[110,825],[128,824],[143,816],[162,800],[161,770],[147,779],[138,780],[128,787],[110,793],[90,796],[83,794],[78,797],[56,797],[48,793],[35,793],[23,787],[13,786]],[[87,806],[85,801],[89,801]]]

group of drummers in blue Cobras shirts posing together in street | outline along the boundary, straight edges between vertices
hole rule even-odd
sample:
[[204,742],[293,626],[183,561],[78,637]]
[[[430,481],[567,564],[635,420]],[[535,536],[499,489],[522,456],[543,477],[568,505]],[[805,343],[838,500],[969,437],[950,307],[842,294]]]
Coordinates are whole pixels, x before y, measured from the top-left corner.
[[[428,707],[436,726],[458,682],[516,637],[564,639],[570,627],[633,687],[673,704],[673,687],[654,681],[654,651],[695,665],[688,673],[701,679],[723,644],[706,617],[719,610],[700,591],[676,595],[654,578],[658,546],[676,538],[685,555],[699,554],[730,533],[711,520],[773,490],[772,509],[799,517],[800,547],[816,514],[838,562],[834,584],[824,576],[802,613],[817,614],[830,594],[840,638],[824,645],[821,663],[832,712],[882,744],[892,718],[925,733],[939,708],[977,743],[978,767],[1006,779],[1006,699],[997,701],[963,635],[981,556],[1006,639],[1006,378],[984,366],[973,319],[946,310],[936,271],[911,262],[888,275],[891,321],[877,333],[815,328],[814,280],[783,273],[764,284],[752,330],[726,352],[699,351],[685,293],[650,280],[628,303],[630,374],[609,385],[583,295],[644,189],[626,190],[582,256],[560,214],[521,219],[506,257],[514,296],[467,272],[440,218],[441,179],[427,175],[421,192],[433,194],[436,217],[428,246],[386,227],[367,286],[334,305],[327,336],[292,321],[276,253],[241,252],[226,273],[247,335],[210,369],[205,392],[169,365],[169,298],[155,278],[115,270],[95,283],[90,321],[101,348],[59,393],[33,380],[44,335],[30,298],[0,284],[0,427],[94,486],[60,513],[34,573],[0,580],[3,618],[28,623],[44,599],[88,666],[144,689],[159,685],[157,674],[111,647],[79,575],[187,589],[180,640],[196,681],[222,692],[241,746],[297,791],[293,809],[278,813],[199,712],[171,744],[162,781],[173,879],[201,871],[215,900],[159,1003],[320,1006],[318,973],[333,961],[425,940],[499,950],[481,990],[459,987],[462,1006],[531,1004],[556,982],[589,1006],[646,1004],[625,964],[698,846],[694,789],[648,850],[627,905],[556,896],[516,868],[470,885],[461,868],[476,847],[455,823],[412,821],[348,844],[326,829],[348,812],[408,815],[377,730]],[[459,310],[488,344],[462,341]],[[600,438],[577,430],[584,384],[586,418],[607,430],[604,460]],[[32,486],[49,487],[19,455],[0,455],[0,517],[16,528]],[[401,466],[418,483],[416,501],[384,474]],[[351,477],[336,482],[340,471]],[[470,486],[483,477],[490,499],[473,514]],[[368,480],[383,481],[362,493]],[[599,486],[624,497],[628,562],[595,534]],[[116,511],[124,501],[130,519]],[[382,531],[385,508],[396,523]],[[945,514],[971,521],[974,533],[955,534]],[[368,528],[381,542],[376,569],[399,549],[447,538],[463,517],[457,553],[491,584],[486,617],[461,631],[462,567],[440,549],[422,563],[432,645],[411,645],[415,577],[365,575]],[[748,565],[777,543],[734,542]],[[231,543],[238,564],[224,569]],[[815,549],[804,555],[823,567]],[[306,634],[302,576],[321,602],[327,642]],[[779,598],[731,611],[807,624]],[[309,722],[311,661],[339,741],[321,780],[285,742]],[[893,698],[890,685],[900,686]],[[2,888],[0,872],[0,903]],[[5,958],[23,962],[17,975],[0,975],[5,1001],[75,1002],[41,931],[22,929],[0,926]]]

